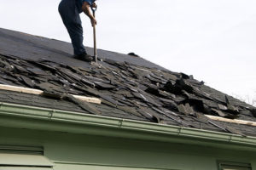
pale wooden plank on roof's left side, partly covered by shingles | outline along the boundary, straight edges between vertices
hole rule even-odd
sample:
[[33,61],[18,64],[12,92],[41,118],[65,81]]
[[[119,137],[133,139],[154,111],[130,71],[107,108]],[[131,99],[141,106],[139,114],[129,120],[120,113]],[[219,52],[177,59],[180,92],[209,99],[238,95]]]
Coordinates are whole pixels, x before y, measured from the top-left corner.
[[[0,84],[0,89],[1,90],[8,90],[8,91],[13,91],[13,92],[20,92],[24,94],[43,94],[44,92],[42,90],[38,89],[33,89],[33,88],[22,88],[22,87],[17,87],[17,86],[10,86],[10,85],[4,85]],[[101,104],[102,100],[97,99],[97,98],[91,98],[91,97],[86,97],[86,96],[79,96],[79,95],[73,95],[74,98],[76,99],[81,99],[86,102],[90,103],[95,103],[95,104]]]

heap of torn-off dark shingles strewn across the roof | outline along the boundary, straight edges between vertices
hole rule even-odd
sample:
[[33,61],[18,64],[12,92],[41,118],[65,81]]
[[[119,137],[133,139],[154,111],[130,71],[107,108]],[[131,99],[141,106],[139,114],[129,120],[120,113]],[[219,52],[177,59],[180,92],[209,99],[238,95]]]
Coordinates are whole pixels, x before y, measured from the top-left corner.
[[[172,71],[160,71],[106,59],[101,65],[71,67],[49,60],[19,59],[0,55],[0,83],[44,91],[45,97],[68,99],[92,114],[101,111],[68,94],[93,96],[131,115],[150,122],[201,127],[211,124],[224,131],[240,133],[218,125],[204,115],[237,118],[256,116],[255,108],[207,93],[203,82]],[[191,121],[193,120],[193,121]],[[172,122],[172,123],[171,123]],[[173,123],[175,122],[175,123]],[[193,122],[193,123],[192,123]]]

